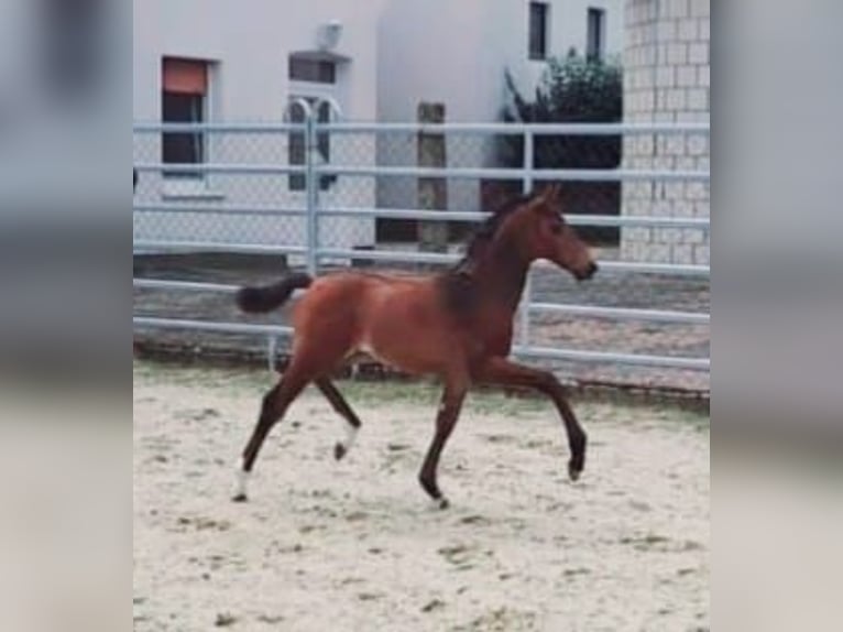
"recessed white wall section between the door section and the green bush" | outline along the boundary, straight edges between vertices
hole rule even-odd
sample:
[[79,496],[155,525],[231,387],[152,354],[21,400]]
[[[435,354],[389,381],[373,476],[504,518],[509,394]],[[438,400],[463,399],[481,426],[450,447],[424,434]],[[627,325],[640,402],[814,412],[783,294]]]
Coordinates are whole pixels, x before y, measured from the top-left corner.
[[[522,94],[532,94],[545,61],[528,58],[527,0],[388,0],[380,21],[379,120],[415,121],[418,103],[441,102],[449,122],[501,120],[506,102],[505,70]],[[621,0],[550,0],[548,56],[563,56],[571,47],[583,53],[588,8],[605,11],[605,53],[623,51]],[[413,137],[382,137],[381,164],[415,164]],[[451,166],[490,166],[490,139],[459,135],[448,139]],[[415,206],[412,178],[381,178],[381,206]],[[455,210],[480,207],[480,183],[450,181],[448,206]]]

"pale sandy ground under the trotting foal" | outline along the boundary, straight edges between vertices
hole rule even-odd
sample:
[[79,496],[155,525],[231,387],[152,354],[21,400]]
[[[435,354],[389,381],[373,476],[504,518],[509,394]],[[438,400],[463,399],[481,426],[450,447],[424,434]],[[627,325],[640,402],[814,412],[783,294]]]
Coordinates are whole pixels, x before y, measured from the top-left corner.
[[441,511],[416,482],[436,391],[341,383],[363,419],[346,460],[307,391],[236,504],[271,383],[135,364],[135,630],[708,630],[707,417],[579,403],[591,451],[572,484],[548,404],[472,395]]

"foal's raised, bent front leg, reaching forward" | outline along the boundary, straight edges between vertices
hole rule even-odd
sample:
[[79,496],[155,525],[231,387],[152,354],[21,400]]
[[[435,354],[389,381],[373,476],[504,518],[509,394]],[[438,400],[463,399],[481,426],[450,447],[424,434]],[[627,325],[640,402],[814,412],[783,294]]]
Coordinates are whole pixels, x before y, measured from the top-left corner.
[[562,416],[568,435],[568,447],[571,450],[571,459],[568,461],[568,476],[571,480],[580,478],[582,468],[585,466],[585,444],[588,437],[577,421],[571,406],[568,404],[565,386],[559,383],[559,380],[550,371],[539,371],[523,364],[516,364],[506,358],[490,358],[481,366],[474,378],[479,382],[488,384],[536,389],[550,397]]

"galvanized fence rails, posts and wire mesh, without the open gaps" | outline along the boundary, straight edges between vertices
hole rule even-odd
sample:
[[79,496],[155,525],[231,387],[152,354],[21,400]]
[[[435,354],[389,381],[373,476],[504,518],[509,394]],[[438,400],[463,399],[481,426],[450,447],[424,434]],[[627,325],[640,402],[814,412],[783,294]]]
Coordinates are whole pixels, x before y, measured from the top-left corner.
[[[302,107],[307,108],[307,105]],[[379,248],[361,250],[343,243],[341,239],[327,239],[324,224],[333,221],[390,220],[435,220],[449,222],[475,222],[486,215],[477,209],[470,210],[419,210],[413,204],[396,207],[380,200],[377,183],[384,178],[444,178],[449,185],[461,181],[489,181],[521,183],[524,192],[532,190],[544,182],[589,182],[589,183],[644,183],[645,186],[670,185],[671,183],[703,183],[710,181],[708,168],[622,168],[570,170],[536,168],[534,148],[541,137],[622,137],[623,139],[648,137],[656,142],[660,138],[703,135],[708,138],[707,124],[421,124],[421,123],[358,123],[329,122],[319,123],[309,109],[302,123],[211,123],[211,124],[134,124],[134,166],[141,176],[142,185],[135,196],[133,210],[135,217],[135,252],[226,252],[255,253],[269,255],[298,257],[311,274],[318,274],[326,263],[369,260],[375,264],[450,264],[459,260],[459,254],[451,252],[420,252],[413,247],[395,250]],[[189,134],[201,139],[206,148],[205,161],[198,164],[168,164],[161,160],[161,141],[165,134]],[[387,159],[388,152],[380,151],[381,139],[404,139],[394,146],[406,150],[404,144],[412,144],[412,139],[420,133],[441,134],[449,142],[452,139],[472,138],[489,142],[501,137],[518,137],[524,148],[524,162],[518,168],[500,166],[464,166],[462,164],[441,168],[419,167],[407,160]],[[296,137],[303,145],[304,155],[297,155],[293,162],[291,146]],[[330,139],[332,151],[329,161],[320,154],[320,141]],[[221,139],[221,140],[220,140]],[[233,140],[231,140],[233,139]],[[242,144],[242,139],[253,139]],[[344,139],[363,139],[358,146],[365,151],[358,154],[343,151],[351,146]],[[455,141],[456,142],[456,141]],[[225,144],[225,146],[222,146]],[[455,145],[456,146],[456,145]],[[252,149],[250,149],[252,148]],[[236,151],[234,151],[236,150]],[[470,152],[469,152],[470,153]],[[404,151],[404,157],[409,155]],[[470,160],[480,156],[477,151]],[[245,156],[248,160],[234,160]],[[456,161],[459,162],[459,161]],[[678,161],[677,161],[678,162]],[[686,161],[688,162],[688,161]],[[398,163],[398,164],[395,164]],[[178,172],[182,181],[180,192],[167,192],[173,181],[167,173]],[[186,174],[194,177],[185,178]],[[292,185],[277,187],[280,179],[297,175],[304,177],[304,190],[291,193]],[[220,178],[217,181],[217,178]],[[270,178],[270,179],[267,179]],[[342,186],[326,193],[325,178],[335,178]],[[216,185],[214,184],[217,181]],[[365,188],[354,189],[354,183],[365,181]],[[286,182],[286,181],[285,181]],[[371,183],[375,184],[372,185]],[[143,184],[145,183],[145,184]],[[209,184],[210,183],[210,184]],[[251,184],[243,184],[251,183]],[[219,186],[220,190],[215,190]],[[329,185],[333,186],[333,185]],[[185,188],[186,187],[186,188]],[[193,187],[193,188],[191,188]],[[240,188],[238,195],[233,189]],[[342,187],[346,187],[342,189]],[[259,193],[254,193],[258,190]],[[346,194],[342,194],[346,190]],[[364,190],[364,193],[359,193]],[[351,192],[351,193],[349,193]],[[357,192],[357,193],[354,193]],[[357,203],[357,204],[354,204]],[[139,229],[154,226],[154,218],[178,218],[180,224],[167,226],[178,230],[153,230],[150,236]],[[278,242],[266,242],[266,227],[271,224],[256,224],[255,235],[260,239],[232,238],[230,230],[220,229],[221,237],[209,238],[210,222],[228,218],[240,221],[296,222],[291,224],[288,235]],[[708,217],[663,217],[652,215],[571,215],[569,220],[578,227],[616,227],[622,230],[692,230],[700,231],[708,240],[710,220]],[[233,226],[233,225],[227,225]],[[351,226],[343,224],[338,226]],[[147,231],[149,232],[149,231]],[[336,229],[335,229],[336,232]],[[194,237],[194,236],[198,237]],[[336,237],[336,235],[333,236]],[[536,268],[540,269],[541,263]],[[678,264],[650,261],[601,261],[601,270],[618,274],[667,275],[669,277],[710,279],[708,264]],[[534,270],[535,272],[535,270]],[[613,349],[579,349],[563,345],[547,345],[533,337],[536,318],[543,315],[585,317],[611,322],[637,322],[653,324],[692,325],[708,328],[708,310],[682,310],[667,308],[646,308],[628,306],[599,306],[566,302],[543,301],[535,296],[534,274],[528,277],[517,328],[517,342],[514,352],[523,357],[565,360],[585,363],[617,363],[638,367],[661,367],[708,372],[710,358],[688,357],[670,353],[625,352]],[[195,282],[174,279],[133,279],[138,290],[158,290],[176,293],[205,292],[230,294],[236,285],[225,283]],[[150,329],[188,329],[195,331],[215,331],[227,334],[248,334],[264,337],[272,362],[278,340],[289,334],[289,328],[276,324],[253,324],[222,322],[202,318],[201,314],[184,318],[169,315],[150,315],[135,309],[133,324],[135,330]]]

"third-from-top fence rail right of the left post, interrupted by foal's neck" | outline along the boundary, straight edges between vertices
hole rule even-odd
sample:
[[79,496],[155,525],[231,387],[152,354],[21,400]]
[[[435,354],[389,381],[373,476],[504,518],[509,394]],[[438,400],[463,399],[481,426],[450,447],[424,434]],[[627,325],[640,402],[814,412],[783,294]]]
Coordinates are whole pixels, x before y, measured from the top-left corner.
[[[360,217],[382,219],[418,219],[441,221],[484,221],[491,214],[462,210],[414,210],[408,208],[360,208],[337,207],[320,208],[317,211],[320,217]],[[603,216],[603,215],[573,215],[566,216],[571,226],[618,226],[618,227],[646,227],[646,228],[696,228],[708,229],[709,219],[685,217],[645,217],[645,216]]]

